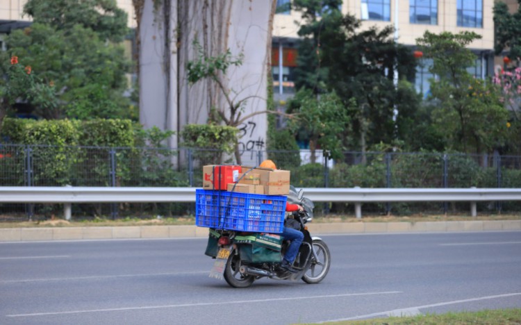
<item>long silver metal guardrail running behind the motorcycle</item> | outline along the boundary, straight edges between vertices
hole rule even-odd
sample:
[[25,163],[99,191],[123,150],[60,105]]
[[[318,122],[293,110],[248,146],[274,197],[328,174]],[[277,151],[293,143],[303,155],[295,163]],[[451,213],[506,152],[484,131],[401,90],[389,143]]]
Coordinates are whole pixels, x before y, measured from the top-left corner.
[[[71,203],[195,202],[196,188],[0,187],[0,203],[63,203],[70,219]],[[362,217],[362,203],[468,201],[477,215],[477,201],[521,201],[521,188],[303,188],[315,202],[350,202]]]

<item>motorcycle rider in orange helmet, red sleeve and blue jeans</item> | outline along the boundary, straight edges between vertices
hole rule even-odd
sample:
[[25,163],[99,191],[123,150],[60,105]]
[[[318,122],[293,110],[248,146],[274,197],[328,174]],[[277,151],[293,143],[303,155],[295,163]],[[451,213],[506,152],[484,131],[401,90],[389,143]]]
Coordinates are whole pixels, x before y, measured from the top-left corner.
[[[276,165],[272,160],[264,160],[261,165],[259,165],[261,168],[271,168],[276,169]],[[286,211],[288,212],[294,212],[294,211],[304,211],[304,208],[300,206],[299,204],[290,204],[286,203]],[[286,253],[284,254],[284,257],[281,262],[281,269],[283,269],[286,272],[290,273],[297,273],[298,271],[294,269],[291,265],[295,261],[295,258],[297,258],[297,253],[299,253],[299,248],[302,243],[302,240],[304,240],[304,234],[293,228],[289,228],[286,226],[286,224],[283,226],[283,231],[281,233],[281,236],[286,239],[290,240],[290,246],[286,250]]]

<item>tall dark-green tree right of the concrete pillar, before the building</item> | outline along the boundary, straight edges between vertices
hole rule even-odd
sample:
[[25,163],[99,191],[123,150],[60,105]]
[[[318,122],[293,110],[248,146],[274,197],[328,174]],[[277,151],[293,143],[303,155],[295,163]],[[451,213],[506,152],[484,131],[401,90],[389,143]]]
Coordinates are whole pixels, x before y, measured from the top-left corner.
[[[304,24],[299,35],[297,86],[315,93],[334,90],[350,110],[355,137],[347,147],[365,149],[374,143],[395,139],[395,108],[409,105],[404,87],[397,88],[396,77],[411,78],[416,60],[409,49],[392,39],[393,28],[361,28],[353,15],[343,16],[341,1],[295,1]],[[304,71],[304,72],[302,72]],[[410,108],[410,107],[409,107]],[[354,140],[356,139],[356,140]]]

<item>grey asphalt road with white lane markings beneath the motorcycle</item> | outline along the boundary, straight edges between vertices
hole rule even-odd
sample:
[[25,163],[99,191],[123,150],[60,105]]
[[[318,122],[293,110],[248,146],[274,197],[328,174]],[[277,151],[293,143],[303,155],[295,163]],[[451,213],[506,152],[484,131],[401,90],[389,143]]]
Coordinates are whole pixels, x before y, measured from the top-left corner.
[[0,324],[294,324],[521,308],[521,232],[327,235],[317,285],[209,278],[206,240],[0,243]]

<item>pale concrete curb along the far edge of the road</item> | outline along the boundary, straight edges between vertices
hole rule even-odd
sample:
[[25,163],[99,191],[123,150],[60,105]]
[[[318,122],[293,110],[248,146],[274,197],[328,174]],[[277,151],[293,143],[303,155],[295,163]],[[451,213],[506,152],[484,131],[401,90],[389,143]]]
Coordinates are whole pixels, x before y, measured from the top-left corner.
[[[521,231],[521,220],[458,222],[338,222],[329,224],[311,223],[308,224],[308,228],[312,235],[347,233]],[[0,242],[206,237],[208,237],[208,228],[201,228],[197,226],[0,228]]]

